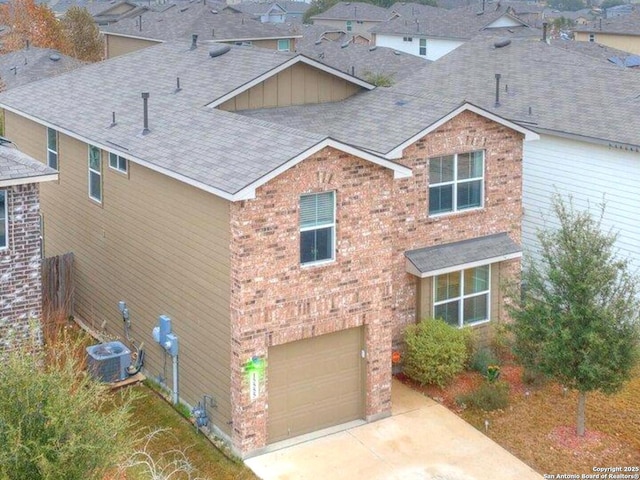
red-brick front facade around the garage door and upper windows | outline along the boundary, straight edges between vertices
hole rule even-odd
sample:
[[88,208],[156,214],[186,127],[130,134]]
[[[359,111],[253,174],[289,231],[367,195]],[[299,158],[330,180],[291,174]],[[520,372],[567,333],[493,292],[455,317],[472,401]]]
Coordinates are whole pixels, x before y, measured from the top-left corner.
[[[428,159],[485,150],[485,204],[428,217]],[[247,453],[266,445],[267,388],[249,400],[242,368],[269,346],[365,326],[366,415],[391,409],[391,350],[416,321],[416,278],[404,252],[498,232],[520,241],[522,136],[464,112],[407,149],[413,176],[326,148],[231,205],[232,439]],[[336,192],[336,258],[301,267],[301,194]]]

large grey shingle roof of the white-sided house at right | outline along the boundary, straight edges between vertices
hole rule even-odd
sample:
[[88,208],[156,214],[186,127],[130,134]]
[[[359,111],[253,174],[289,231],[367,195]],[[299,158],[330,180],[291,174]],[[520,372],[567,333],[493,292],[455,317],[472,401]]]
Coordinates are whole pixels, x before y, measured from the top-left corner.
[[[616,148],[640,148],[638,73],[559,45],[496,38],[465,43],[390,90],[422,97],[436,91],[466,98],[514,122]],[[495,74],[501,74],[495,106]]]

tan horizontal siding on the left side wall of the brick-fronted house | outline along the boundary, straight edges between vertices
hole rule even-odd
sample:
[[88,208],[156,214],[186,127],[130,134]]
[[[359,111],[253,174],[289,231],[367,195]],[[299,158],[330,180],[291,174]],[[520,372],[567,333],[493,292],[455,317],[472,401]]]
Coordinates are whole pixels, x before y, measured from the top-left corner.
[[[46,128],[10,112],[6,135],[34,158],[46,158]],[[130,310],[130,336],[144,342],[146,373],[172,386],[171,358],[153,341],[169,315],[179,339],[180,397],[194,405],[211,395],[212,423],[230,433],[229,204],[128,162],[128,174],[102,154],[103,202],[88,196],[87,144],[59,134],[59,182],[43,185],[45,254],[75,254],[76,314],[125,343],[118,311]]]

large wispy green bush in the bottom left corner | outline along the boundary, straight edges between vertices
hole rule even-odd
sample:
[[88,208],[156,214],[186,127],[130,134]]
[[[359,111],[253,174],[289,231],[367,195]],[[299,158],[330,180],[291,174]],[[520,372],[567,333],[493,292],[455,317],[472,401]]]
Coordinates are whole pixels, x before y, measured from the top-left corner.
[[79,366],[77,342],[13,351],[0,368],[0,479],[99,480],[126,457],[129,403]]

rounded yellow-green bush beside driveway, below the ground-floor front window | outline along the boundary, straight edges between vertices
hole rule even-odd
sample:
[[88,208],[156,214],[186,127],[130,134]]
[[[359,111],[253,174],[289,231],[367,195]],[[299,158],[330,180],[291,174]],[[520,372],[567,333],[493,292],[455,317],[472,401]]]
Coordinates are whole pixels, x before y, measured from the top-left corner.
[[464,369],[469,335],[442,320],[410,325],[404,335],[404,374],[421,385],[445,386]]

